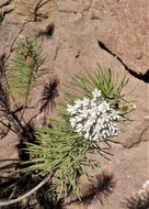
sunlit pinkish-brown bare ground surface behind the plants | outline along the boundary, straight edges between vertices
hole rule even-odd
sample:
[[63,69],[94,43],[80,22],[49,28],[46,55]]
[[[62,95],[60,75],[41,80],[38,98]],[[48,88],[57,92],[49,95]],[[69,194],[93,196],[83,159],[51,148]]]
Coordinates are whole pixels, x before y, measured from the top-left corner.
[[[118,73],[119,79],[125,74],[129,78],[125,92],[131,92],[128,99],[135,100],[137,107],[130,114],[133,121],[121,124],[117,143],[112,144],[113,156],[110,162],[102,162],[98,170],[113,174],[115,186],[110,194],[95,194],[90,201],[70,201],[65,206],[67,209],[121,209],[126,198],[149,179],[149,1],[51,0],[41,1],[38,8],[37,2],[0,1],[0,13],[3,13],[0,55],[4,53],[7,59],[12,56],[19,35],[38,35],[48,72],[43,84],[57,77],[60,89],[77,72],[93,72],[98,64]],[[34,103],[39,94],[33,97]],[[31,110],[26,118],[35,111]],[[56,111],[57,107],[49,114]],[[1,168],[8,164],[5,160],[19,160],[18,143],[11,132],[0,140]],[[83,180],[82,185],[88,187]]]

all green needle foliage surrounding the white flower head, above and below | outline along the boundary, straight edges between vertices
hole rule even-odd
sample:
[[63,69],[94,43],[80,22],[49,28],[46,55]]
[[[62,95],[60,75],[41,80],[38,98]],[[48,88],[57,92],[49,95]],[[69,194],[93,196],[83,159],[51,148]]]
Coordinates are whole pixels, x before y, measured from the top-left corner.
[[[58,119],[50,120],[54,128],[44,127],[37,133],[35,144],[27,144],[26,152],[36,157],[27,162],[27,167],[23,172],[38,170],[41,175],[51,172],[59,197],[65,196],[66,198],[72,189],[80,198],[81,194],[77,185],[78,176],[91,177],[84,165],[95,168],[93,156],[106,158],[106,154],[110,153],[105,152],[98,142],[88,141],[74,132],[69,122],[67,105],[72,105],[82,95],[91,98],[92,91],[98,88],[102,91],[104,99],[118,109],[119,102],[125,101],[122,90],[127,82],[126,76],[123,80],[118,80],[118,76],[115,79],[115,74],[111,69],[100,68],[93,74],[88,73],[87,76],[81,73],[77,74],[71,82],[71,91],[65,92],[66,99],[59,103],[61,110]],[[108,145],[106,141],[105,143]]]

